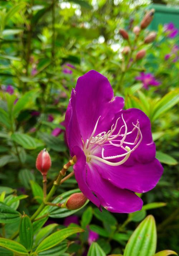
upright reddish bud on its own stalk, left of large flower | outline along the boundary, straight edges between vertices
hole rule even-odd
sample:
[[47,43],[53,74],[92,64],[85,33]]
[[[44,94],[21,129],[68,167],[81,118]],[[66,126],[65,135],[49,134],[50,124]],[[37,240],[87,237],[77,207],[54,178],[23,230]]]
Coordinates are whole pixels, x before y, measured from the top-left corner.
[[44,148],[37,156],[36,168],[43,174],[47,175],[52,163],[48,151]]

